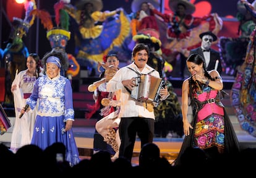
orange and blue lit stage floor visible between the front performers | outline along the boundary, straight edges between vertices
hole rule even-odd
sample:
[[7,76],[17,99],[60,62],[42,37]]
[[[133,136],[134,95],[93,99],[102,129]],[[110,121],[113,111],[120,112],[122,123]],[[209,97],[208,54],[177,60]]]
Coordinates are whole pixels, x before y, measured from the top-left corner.
[[[237,127],[237,125],[236,125]],[[235,128],[237,139],[239,140],[241,149],[244,148],[256,148],[256,138],[247,134],[244,130]],[[93,134],[95,132],[94,127],[73,127],[75,135],[75,142],[79,148],[79,154],[81,159],[90,159],[93,154]],[[160,148],[161,156],[168,159],[169,163],[173,163],[177,158],[179,150],[181,148],[183,138],[154,138],[153,143]],[[137,138],[134,146],[134,156],[132,158],[132,164],[139,164],[140,153],[140,140]]]

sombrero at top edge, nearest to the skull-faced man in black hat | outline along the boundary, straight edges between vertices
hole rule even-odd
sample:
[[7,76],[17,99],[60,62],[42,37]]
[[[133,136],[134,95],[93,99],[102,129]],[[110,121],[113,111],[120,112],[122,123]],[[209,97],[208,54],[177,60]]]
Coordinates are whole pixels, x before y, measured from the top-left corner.
[[169,0],[171,11],[176,12],[178,4],[183,4],[186,7],[185,14],[193,14],[195,12],[195,5],[189,0]]

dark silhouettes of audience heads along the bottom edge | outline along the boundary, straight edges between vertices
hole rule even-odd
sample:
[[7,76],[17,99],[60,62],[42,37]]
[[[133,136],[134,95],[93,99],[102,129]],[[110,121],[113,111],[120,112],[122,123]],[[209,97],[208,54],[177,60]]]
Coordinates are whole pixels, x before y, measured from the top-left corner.
[[[0,166],[2,170],[9,170],[12,167],[15,171],[14,176],[34,177],[40,172],[40,176],[80,176],[87,172],[96,177],[106,176],[110,170],[126,172],[127,176],[164,176],[169,172],[174,175],[189,176],[193,171],[200,169],[202,174],[207,174],[210,167],[225,167],[229,165],[232,169],[241,170],[243,175],[250,175],[254,170],[254,164],[250,160],[256,159],[256,148],[244,148],[237,155],[218,154],[211,158],[200,148],[187,148],[181,156],[181,164],[175,165],[169,163],[168,159],[162,156],[160,148],[155,143],[143,145],[139,153],[139,164],[132,163],[119,157],[111,161],[111,155],[108,151],[99,151],[91,157],[81,159],[78,164],[70,166],[69,162],[64,160],[66,147],[63,143],[53,143],[45,150],[36,145],[24,145],[17,153],[13,153],[3,143],[0,144]],[[164,154],[163,154],[164,155]],[[6,169],[5,169],[6,168]],[[95,168],[98,171],[95,171]],[[26,170],[35,172],[30,174]],[[47,171],[46,171],[47,170]],[[186,170],[186,171],[183,171]],[[223,169],[229,175],[237,174],[237,171]],[[37,172],[37,173],[36,173]],[[234,175],[235,176],[235,175]]]

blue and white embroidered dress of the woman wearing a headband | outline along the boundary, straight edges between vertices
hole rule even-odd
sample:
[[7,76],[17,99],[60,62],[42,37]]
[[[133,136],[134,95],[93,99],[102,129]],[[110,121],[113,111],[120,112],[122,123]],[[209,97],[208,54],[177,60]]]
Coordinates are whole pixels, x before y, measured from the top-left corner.
[[39,102],[32,144],[43,150],[56,142],[66,145],[66,161],[71,166],[79,163],[79,151],[72,129],[65,132],[67,120],[74,121],[72,87],[66,77],[58,75],[50,79],[47,75],[38,78],[33,93],[27,99],[31,109]]

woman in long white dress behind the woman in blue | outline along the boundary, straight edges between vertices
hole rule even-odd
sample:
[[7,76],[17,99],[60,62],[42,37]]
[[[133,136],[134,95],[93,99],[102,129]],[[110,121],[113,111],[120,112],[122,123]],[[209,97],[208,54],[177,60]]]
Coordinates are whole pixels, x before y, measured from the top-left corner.
[[31,95],[36,79],[41,74],[41,61],[36,53],[30,53],[27,58],[27,68],[15,75],[11,91],[14,94],[15,122],[12,130],[10,150],[16,153],[23,145],[31,142],[38,110],[36,104],[33,112],[26,112],[20,117],[20,111],[25,106],[26,99]]

